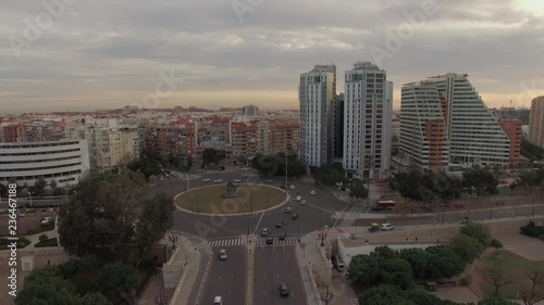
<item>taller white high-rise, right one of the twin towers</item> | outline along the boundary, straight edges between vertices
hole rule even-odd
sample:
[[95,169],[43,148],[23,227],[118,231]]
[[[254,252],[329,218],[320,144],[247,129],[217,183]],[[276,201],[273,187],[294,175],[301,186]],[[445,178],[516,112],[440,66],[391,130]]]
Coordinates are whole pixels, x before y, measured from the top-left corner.
[[349,176],[387,175],[391,166],[393,82],[370,62],[345,73],[344,161]]

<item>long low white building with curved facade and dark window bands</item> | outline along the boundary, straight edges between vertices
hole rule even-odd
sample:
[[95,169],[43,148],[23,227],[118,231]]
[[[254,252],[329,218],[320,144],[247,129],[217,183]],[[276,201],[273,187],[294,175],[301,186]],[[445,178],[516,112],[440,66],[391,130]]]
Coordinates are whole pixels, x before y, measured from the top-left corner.
[[89,170],[86,140],[0,143],[0,183],[33,186],[40,177],[57,186],[75,185]]

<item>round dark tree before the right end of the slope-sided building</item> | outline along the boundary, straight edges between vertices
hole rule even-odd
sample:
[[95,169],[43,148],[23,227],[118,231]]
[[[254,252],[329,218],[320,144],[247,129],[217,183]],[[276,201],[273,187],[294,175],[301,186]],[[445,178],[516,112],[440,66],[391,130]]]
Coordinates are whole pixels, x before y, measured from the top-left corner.
[[491,171],[474,166],[462,173],[462,187],[465,192],[477,196],[496,194],[498,179]]

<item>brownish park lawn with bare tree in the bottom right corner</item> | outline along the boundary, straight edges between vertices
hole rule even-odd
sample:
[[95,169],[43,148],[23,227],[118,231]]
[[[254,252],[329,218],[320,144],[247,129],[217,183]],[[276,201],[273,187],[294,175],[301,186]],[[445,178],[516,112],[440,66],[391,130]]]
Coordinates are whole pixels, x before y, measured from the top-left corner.
[[[498,293],[507,298],[516,298],[518,284],[520,295],[523,290],[528,291],[530,289],[531,281],[524,272],[531,272],[534,270],[544,271],[544,260],[528,260],[524,257],[506,250],[494,252],[486,257],[482,257],[480,262],[478,262],[474,272],[478,272],[479,278],[483,279],[486,274],[486,266],[490,265],[503,268],[504,277],[512,282],[511,284],[507,284],[498,290]],[[480,284],[485,295],[493,294],[495,290],[493,284],[487,283],[485,280],[482,280]],[[540,285],[540,294],[544,294],[544,285],[542,284]]]

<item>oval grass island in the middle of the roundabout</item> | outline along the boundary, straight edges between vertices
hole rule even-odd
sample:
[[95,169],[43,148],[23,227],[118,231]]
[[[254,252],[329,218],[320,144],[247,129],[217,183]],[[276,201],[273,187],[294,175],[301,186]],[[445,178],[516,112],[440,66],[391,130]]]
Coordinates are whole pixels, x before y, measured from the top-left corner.
[[190,190],[178,195],[181,208],[207,214],[240,214],[274,207],[285,201],[285,192],[261,185],[240,185],[237,198],[223,198],[226,185]]

